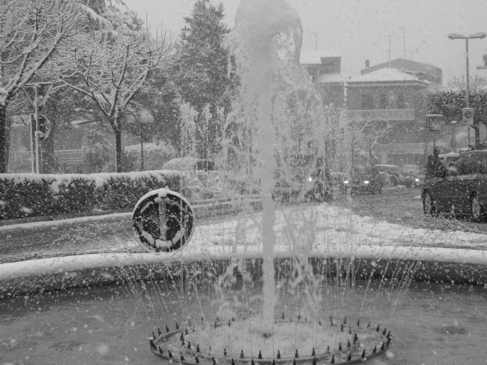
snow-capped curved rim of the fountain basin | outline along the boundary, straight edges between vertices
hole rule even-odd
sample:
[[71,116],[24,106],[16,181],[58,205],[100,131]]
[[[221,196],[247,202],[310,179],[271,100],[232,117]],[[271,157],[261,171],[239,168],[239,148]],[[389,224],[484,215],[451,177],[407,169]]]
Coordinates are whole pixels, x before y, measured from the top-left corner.
[[[288,247],[277,245],[275,259],[294,257]],[[317,259],[392,259],[433,261],[441,263],[470,263],[487,266],[487,252],[457,248],[418,248],[411,246],[358,245],[353,249],[326,246],[315,248],[309,255]],[[157,263],[184,263],[210,260],[262,259],[262,247],[214,246],[212,248],[184,248],[176,252],[157,253],[102,253],[76,256],[51,257],[0,264],[0,282],[24,277],[36,277],[57,273],[70,273],[98,268],[152,265]]]

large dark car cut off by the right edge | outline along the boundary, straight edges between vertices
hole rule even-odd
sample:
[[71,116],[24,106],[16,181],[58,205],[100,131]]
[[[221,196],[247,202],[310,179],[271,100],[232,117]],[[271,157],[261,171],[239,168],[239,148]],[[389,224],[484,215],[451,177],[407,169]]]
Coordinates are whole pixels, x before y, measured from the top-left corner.
[[465,152],[424,182],[424,214],[440,212],[484,216],[487,205],[487,151]]

